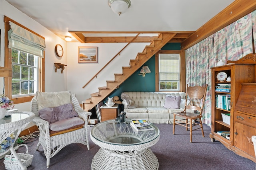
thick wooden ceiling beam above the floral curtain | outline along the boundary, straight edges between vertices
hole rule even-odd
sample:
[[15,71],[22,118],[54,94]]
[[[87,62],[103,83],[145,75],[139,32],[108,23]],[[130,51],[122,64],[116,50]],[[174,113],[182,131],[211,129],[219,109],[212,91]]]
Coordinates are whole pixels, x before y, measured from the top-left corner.
[[185,39],[181,44],[182,50],[192,47],[196,43],[209,37],[213,33],[216,33],[227,25],[230,25],[234,21],[246,16],[255,9],[256,0],[235,0],[232,4],[222,10],[222,12],[196,30],[196,32],[190,35],[190,37]]

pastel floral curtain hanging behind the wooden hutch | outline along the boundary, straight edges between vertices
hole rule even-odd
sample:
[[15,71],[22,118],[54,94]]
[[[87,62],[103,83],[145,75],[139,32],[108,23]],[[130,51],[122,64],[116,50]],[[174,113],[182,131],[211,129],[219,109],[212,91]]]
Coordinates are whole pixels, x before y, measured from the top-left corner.
[[253,41],[256,47],[256,10],[186,50],[186,83],[188,86],[208,84],[203,123],[211,125],[210,68],[220,59],[226,63],[253,53]]

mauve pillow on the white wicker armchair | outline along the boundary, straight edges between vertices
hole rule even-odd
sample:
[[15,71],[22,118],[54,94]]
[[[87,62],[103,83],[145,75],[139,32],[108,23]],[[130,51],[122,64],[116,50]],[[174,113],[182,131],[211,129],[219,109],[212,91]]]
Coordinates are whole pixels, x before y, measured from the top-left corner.
[[58,107],[46,107],[38,111],[41,119],[50,123],[68,119],[71,117],[78,117],[78,113],[73,109],[72,104],[64,104]]

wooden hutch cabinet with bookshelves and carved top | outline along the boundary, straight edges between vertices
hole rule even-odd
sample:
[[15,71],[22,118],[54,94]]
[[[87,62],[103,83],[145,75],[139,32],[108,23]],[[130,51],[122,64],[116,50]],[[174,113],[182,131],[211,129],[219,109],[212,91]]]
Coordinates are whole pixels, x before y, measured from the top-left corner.
[[[225,147],[234,151],[236,154],[256,162],[252,143],[250,144],[250,147],[249,144],[245,144],[246,142],[248,143],[248,140],[251,139],[252,135],[256,135],[256,109],[252,110],[253,113],[249,115],[244,112],[236,111],[236,104],[238,102],[238,97],[240,96],[242,83],[256,82],[256,62],[254,63],[254,61],[256,61],[256,55],[249,54],[238,61],[228,61],[227,65],[211,68],[212,130],[210,138],[212,141],[220,141]],[[227,76],[230,76],[231,81],[227,82],[226,78],[224,78],[224,81],[217,79],[217,77],[225,75],[225,73]],[[218,86],[223,87],[222,85],[229,86],[230,92],[219,90],[220,88],[217,89]],[[227,98],[229,96],[230,110],[228,109],[228,106],[220,107],[220,97]],[[226,105],[228,105],[227,102]],[[222,113],[230,113],[230,123],[223,121]],[[220,133],[220,131],[229,131],[229,139],[219,135],[218,132]],[[245,136],[250,139],[246,139]]]

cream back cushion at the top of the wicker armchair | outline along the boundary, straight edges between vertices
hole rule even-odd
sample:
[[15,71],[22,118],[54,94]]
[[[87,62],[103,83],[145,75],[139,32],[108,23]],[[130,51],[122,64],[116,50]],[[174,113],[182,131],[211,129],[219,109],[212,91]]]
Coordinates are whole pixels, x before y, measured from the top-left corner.
[[57,107],[71,103],[70,91],[65,92],[36,92],[38,110],[45,107]]

